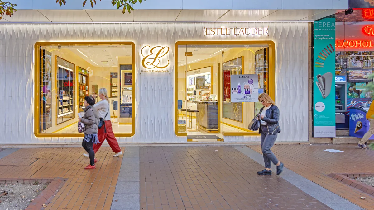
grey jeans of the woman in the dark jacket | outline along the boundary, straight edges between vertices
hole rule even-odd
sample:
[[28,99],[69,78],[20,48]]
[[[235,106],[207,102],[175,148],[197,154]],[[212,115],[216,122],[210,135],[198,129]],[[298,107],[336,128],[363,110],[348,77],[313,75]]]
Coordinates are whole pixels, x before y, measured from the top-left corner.
[[272,161],[274,164],[278,163],[278,159],[275,157],[274,153],[271,151],[272,146],[275,143],[275,140],[278,137],[278,133],[268,134],[267,127],[261,125],[261,150],[264,156],[265,168],[271,169]]

